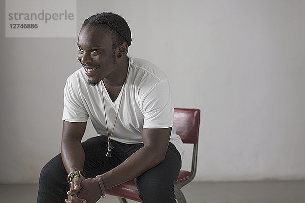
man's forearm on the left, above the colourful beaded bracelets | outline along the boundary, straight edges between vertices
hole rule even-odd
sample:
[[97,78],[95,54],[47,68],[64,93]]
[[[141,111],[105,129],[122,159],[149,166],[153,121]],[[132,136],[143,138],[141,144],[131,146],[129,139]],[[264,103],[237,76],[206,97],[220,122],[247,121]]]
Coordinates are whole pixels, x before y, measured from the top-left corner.
[[62,159],[67,173],[83,171],[85,154],[81,142],[77,139],[63,139],[61,145]]

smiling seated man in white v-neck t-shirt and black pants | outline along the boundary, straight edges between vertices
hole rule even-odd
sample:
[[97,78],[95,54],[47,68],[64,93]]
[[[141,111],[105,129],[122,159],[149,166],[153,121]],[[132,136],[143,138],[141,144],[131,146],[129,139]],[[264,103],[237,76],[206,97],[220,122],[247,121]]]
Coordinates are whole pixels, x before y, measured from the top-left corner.
[[[183,150],[172,129],[169,82],[153,63],[128,56],[130,45],[121,16],[104,12],[84,21],[82,67],[64,89],[61,153],[41,171],[37,202],[96,202],[132,179],[143,202],[176,202]],[[81,143],[89,117],[99,136]]]

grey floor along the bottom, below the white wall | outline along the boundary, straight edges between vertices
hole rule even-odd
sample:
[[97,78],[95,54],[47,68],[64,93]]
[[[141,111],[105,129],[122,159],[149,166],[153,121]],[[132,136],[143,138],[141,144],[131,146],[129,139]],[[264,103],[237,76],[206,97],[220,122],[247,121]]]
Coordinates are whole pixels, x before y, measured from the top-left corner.
[[[0,202],[34,203],[37,189],[37,184],[0,184]],[[304,203],[305,181],[192,182],[183,187],[182,192],[188,203]],[[102,202],[119,203],[110,195],[98,201]]]

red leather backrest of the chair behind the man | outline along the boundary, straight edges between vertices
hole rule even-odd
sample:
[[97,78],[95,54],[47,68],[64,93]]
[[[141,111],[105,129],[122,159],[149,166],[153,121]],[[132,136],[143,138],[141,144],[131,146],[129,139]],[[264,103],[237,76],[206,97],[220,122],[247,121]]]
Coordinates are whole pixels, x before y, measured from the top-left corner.
[[176,133],[181,137],[183,143],[198,143],[199,123],[199,109],[174,108]]

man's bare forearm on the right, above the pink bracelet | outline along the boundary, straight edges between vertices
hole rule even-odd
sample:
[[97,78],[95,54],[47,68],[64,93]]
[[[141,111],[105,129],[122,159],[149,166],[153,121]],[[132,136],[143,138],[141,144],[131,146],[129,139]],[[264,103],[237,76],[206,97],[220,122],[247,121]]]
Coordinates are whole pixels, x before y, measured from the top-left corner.
[[144,146],[127,158],[113,170],[102,174],[105,189],[132,180],[152,167],[155,167],[165,158],[165,153],[154,147]]

